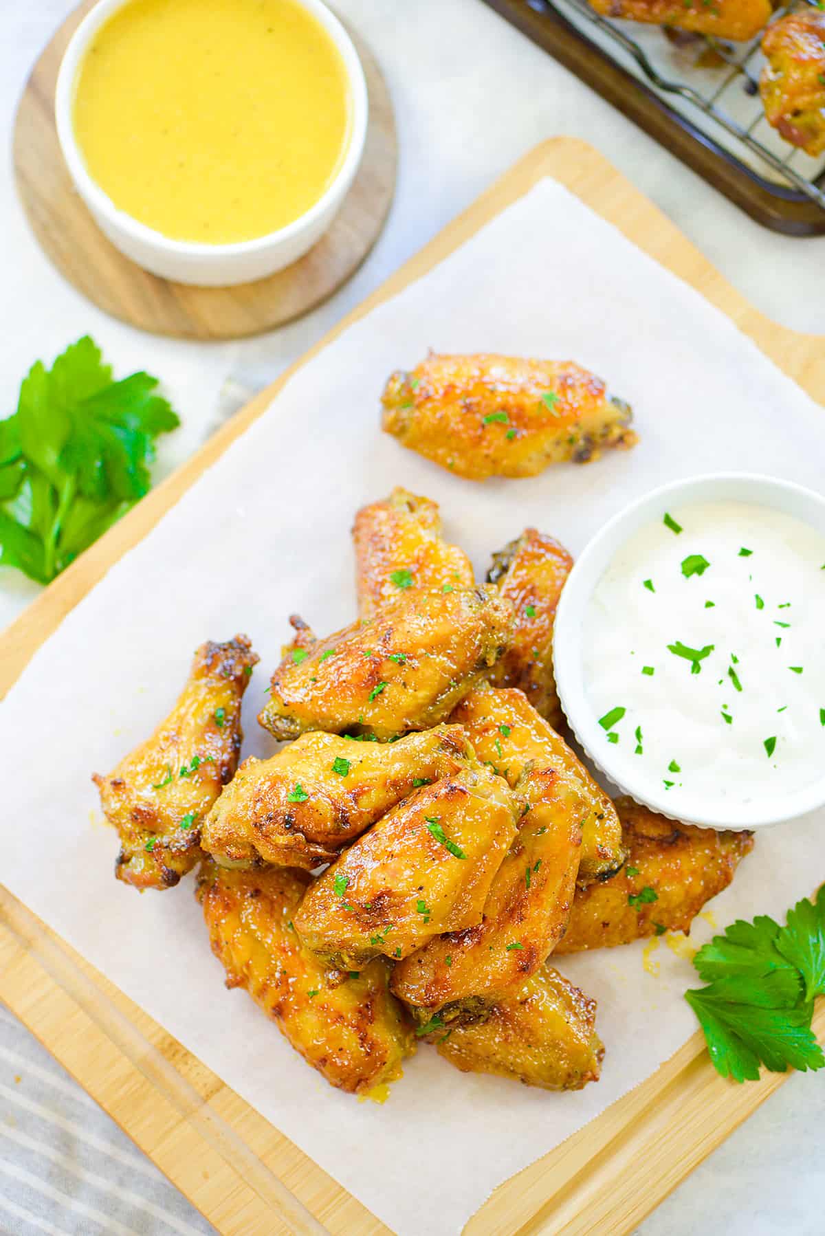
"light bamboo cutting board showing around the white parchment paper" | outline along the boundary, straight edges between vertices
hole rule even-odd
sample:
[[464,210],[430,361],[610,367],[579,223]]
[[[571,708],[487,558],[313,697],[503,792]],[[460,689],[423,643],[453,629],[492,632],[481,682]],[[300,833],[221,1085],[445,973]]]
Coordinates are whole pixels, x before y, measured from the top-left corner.
[[[813,398],[825,403],[823,339],[771,323],[591,147],[538,146],[393,274],[188,464],[92,546],[0,639],[0,692],[62,618],[270,404],[294,370],[552,176],[698,288]],[[371,1236],[388,1229],[161,1026],[0,889],[0,999],[225,1236]],[[825,1005],[815,1017],[825,1035]],[[737,1086],[696,1033],[641,1086],[502,1184],[468,1224],[490,1232],[620,1234],[635,1227],[784,1080]]]

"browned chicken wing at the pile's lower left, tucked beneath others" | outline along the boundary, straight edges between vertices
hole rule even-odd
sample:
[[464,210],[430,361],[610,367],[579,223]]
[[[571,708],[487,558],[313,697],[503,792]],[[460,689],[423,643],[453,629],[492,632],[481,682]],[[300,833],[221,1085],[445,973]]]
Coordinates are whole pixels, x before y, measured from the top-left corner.
[[390,967],[359,975],[324,967],[292,925],[308,876],[268,868],[228,871],[205,861],[198,900],[228,988],[245,988],[307,1064],[330,1085],[375,1099],[401,1077],[416,1051],[401,1005],[390,995]]

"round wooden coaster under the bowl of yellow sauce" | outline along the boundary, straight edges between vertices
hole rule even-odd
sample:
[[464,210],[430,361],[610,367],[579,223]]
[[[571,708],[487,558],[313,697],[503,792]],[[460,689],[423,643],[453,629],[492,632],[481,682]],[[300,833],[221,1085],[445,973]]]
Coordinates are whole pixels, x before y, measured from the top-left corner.
[[75,193],[54,127],[63,51],[94,0],[61,26],[35,64],[14,132],[17,188],[35,236],[58,271],[106,313],[158,335],[237,339],[314,309],[359,268],[377,240],[396,184],[396,126],[386,82],[350,30],[370,93],[361,167],[331,227],[301,261],[256,283],[193,288],[142,271],[99,230]]

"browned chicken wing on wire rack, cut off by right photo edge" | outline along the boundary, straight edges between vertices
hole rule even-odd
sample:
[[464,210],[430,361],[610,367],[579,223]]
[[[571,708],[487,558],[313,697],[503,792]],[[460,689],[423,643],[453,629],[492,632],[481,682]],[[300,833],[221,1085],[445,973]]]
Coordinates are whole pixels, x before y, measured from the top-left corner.
[[825,151],[825,12],[801,7],[768,26],[759,93],[768,122],[808,154]]

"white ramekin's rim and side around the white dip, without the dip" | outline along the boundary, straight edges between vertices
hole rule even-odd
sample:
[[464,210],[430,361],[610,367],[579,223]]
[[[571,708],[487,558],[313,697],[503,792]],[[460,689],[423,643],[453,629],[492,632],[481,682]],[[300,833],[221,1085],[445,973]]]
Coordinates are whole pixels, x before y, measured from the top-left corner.
[[[662,781],[646,775],[639,761],[638,774],[628,776],[627,768],[613,759],[612,748],[605,743],[605,732],[599,724],[585,690],[584,639],[585,613],[594,588],[599,583],[615,554],[638,529],[659,520],[662,512],[684,507],[691,502],[733,501],[769,507],[794,515],[825,535],[825,498],[788,481],[743,472],[724,472],[699,476],[688,481],[653,489],[638,502],[626,507],[596,533],[586,546],[564,585],[555,614],[553,637],[553,661],[555,682],[562,707],[578,742],[592,763],[637,802],[652,807],[664,816],[673,816],[673,800],[667,797]],[[793,819],[825,803],[825,768],[814,784],[798,791],[788,791],[769,802],[748,807],[733,807],[730,802],[706,797],[700,810],[678,818],[706,828],[761,828],[784,819]]]

